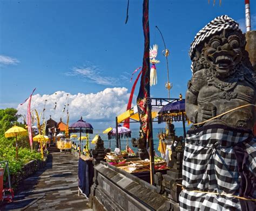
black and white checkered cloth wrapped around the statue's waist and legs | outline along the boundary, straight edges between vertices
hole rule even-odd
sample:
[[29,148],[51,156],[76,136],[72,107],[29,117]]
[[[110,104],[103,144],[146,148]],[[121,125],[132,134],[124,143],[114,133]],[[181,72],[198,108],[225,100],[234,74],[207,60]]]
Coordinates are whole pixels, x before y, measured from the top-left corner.
[[[188,131],[185,142],[180,210],[241,210],[240,200],[231,196],[239,195],[241,181],[234,147],[242,142],[248,154],[247,167],[255,179],[256,140],[251,133],[224,125],[207,125]],[[254,190],[252,198],[255,195]]]

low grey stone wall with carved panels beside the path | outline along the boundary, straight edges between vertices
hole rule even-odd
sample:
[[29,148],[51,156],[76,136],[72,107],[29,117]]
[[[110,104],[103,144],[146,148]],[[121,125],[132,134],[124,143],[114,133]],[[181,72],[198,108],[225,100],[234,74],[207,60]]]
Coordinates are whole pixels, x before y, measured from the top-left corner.
[[155,186],[101,161],[95,166],[90,206],[108,211],[170,210],[168,199],[156,191]]

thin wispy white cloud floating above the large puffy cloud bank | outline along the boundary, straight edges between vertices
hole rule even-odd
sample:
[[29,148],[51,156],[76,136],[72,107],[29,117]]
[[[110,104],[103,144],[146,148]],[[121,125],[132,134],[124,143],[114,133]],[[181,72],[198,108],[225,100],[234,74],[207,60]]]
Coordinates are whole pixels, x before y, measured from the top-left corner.
[[[103,71],[101,71],[97,66],[87,66],[87,67],[73,67],[71,72],[65,73],[67,76],[79,76],[88,82],[96,83],[98,85],[105,86],[118,86],[120,82],[118,79],[111,76],[104,76]],[[122,79],[127,77],[121,75]]]

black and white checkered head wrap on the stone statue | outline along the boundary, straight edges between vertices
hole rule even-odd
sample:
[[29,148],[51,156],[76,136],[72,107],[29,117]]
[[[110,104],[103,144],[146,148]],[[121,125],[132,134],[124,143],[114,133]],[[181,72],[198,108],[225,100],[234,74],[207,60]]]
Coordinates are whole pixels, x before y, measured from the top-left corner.
[[239,24],[227,15],[215,18],[210,23],[208,23],[203,29],[201,29],[197,33],[196,37],[194,37],[194,40],[190,45],[190,58],[192,59],[195,48],[199,44],[204,42],[206,38],[213,36],[214,34],[217,34],[218,32],[224,29],[241,31],[238,26]]

